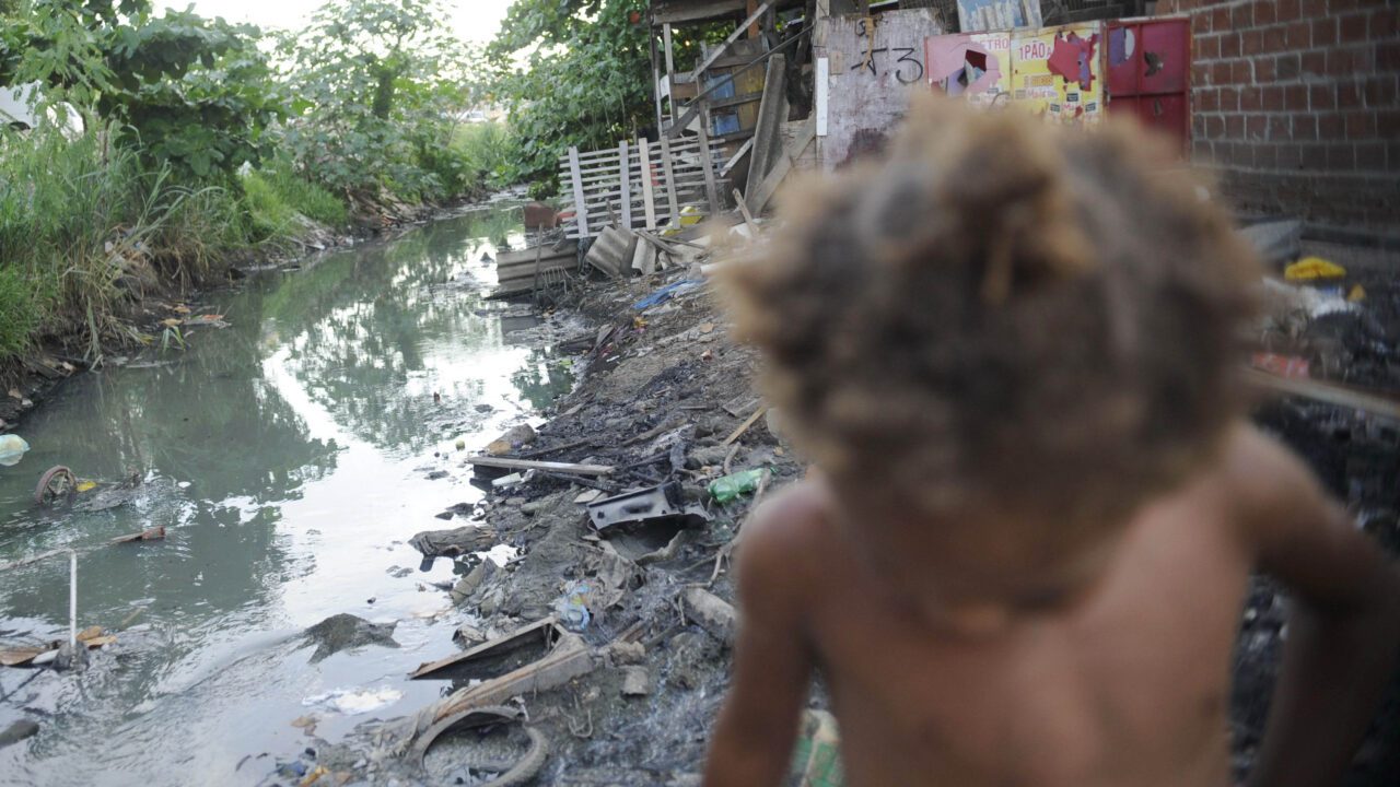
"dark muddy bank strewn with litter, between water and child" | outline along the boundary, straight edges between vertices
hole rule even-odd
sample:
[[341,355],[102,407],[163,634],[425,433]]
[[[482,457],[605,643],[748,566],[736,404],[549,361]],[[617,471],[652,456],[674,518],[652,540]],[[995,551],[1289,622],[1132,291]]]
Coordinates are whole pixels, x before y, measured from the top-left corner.
[[[430,668],[423,678],[441,685],[445,703],[417,717],[367,724],[337,745],[321,744],[319,759],[304,758],[295,767],[326,767],[371,783],[493,783],[504,769],[535,756],[522,732],[528,721],[549,751],[533,783],[697,783],[728,685],[731,651],[724,626],[686,599],[700,588],[734,601],[725,557],[756,497],[750,492],[721,504],[708,485],[764,468],[762,496],[801,478],[805,468],[774,434],[771,416],[753,417],[762,406],[753,389],[756,357],[728,339],[725,318],[703,281],[679,287],[658,305],[636,308],[648,293],[690,276],[673,272],[595,284],[570,304],[598,321],[595,332],[549,335],[546,326],[532,336],[578,350],[575,370],[585,377],[557,402],[549,422],[526,443],[510,445],[507,455],[615,472],[498,471],[477,479],[487,497],[444,511],[448,527],[477,527],[491,542],[518,552],[498,564],[473,555],[480,542],[456,559],[459,580],[442,591],[455,605],[448,619],[455,620],[466,655],[454,668]],[[1368,291],[1373,295],[1361,318],[1365,330],[1337,339],[1327,321],[1317,321],[1295,339],[1331,353],[1319,368],[1340,370],[1338,379],[1354,381],[1347,375],[1364,372],[1365,381],[1385,384],[1394,375],[1397,321],[1387,305],[1394,288],[1380,276],[1368,279]],[[1390,336],[1389,347],[1376,343],[1378,325],[1382,336]],[[1270,401],[1254,419],[1296,448],[1358,522],[1400,555],[1396,424],[1303,399]],[[493,485],[493,475],[505,482]],[[647,534],[650,541],[640,546],[589,522],[585,500],[658,485],[676,485],[673,506],[699,507],[703,517]],[[1231,732],[1239,773],[1247,770],[1263,730],[1285,615],[1287,598],[1257,581],[1242,615],[1233,667]],[[554,633],[532,633],[526,644],[480,653],[483,641],[539,620],[549,623],[538,630]],[[578,658],[570,655],[575,650]],[[559,664],[550,661],[560,654]],[[532,664],[547,669],[531,675]],[[454,706],[454,700],[461,702]],[[501,717],[494,725],[444,734],[420,769],[413,742],[442,721],[444,709],[473,700],[507,706],[514,721]],[[811,706],[825,707],[820,686]],[[1392,690],[1348,786],[1397,783],[1397,734],[1400,702]]]

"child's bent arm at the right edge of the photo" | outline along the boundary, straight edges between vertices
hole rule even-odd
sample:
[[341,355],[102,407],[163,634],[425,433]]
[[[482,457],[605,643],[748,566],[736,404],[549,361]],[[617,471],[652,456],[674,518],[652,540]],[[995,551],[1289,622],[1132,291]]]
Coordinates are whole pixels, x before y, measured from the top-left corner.
[[1249,784],[1338,784],[1400,655],[1400,573],[1287,450],[1240,468],[1259,569],[1291,592],[1288,641]]

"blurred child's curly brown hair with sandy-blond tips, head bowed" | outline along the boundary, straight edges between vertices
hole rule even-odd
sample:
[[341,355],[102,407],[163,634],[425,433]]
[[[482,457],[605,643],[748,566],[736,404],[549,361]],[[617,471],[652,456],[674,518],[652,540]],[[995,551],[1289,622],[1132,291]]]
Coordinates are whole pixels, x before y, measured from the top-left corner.
[[881,161],[788,192],[724,281],[837,489],[1068,546],[1211,459],[1257,263],[1142,137],[916,101]]

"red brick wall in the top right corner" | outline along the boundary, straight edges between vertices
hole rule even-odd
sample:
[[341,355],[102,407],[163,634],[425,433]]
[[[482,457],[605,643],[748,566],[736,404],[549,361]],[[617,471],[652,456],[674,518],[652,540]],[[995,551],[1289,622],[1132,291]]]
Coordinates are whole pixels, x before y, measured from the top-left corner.
[[1243,211],[1400,234],[1400,0],[1163,0],[1190,14],[1193,155]]

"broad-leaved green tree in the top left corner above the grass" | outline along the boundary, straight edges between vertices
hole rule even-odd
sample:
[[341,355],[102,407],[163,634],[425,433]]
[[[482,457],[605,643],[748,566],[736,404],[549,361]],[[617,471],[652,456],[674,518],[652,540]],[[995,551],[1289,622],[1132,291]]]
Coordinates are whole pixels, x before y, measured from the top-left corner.
[[259,31],[192,11],[155,17],[147,0],[32,0],[0,20],[0,84],[41,81],[52,101],[115,120],[118,143],[207,178],[269,151],[286,113]]

